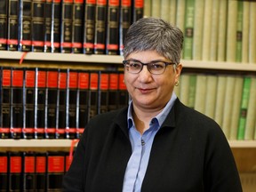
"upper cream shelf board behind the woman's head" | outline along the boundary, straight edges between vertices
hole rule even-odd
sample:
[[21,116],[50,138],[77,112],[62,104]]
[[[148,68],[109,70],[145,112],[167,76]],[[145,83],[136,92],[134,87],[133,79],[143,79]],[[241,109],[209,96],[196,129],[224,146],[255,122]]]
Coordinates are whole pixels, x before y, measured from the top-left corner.
[[[23,55],[24,54],[24,55]],[[26,55],[25,55],[26,54]],[[124,60],[120,55],[86,55],[75,53],[51,53],[51,52],[9,52],[0,51],[0,60],[24,60],[56,61],[56,62],[84,62],[84,63],[107,63],[121,64]],[[256,72],[256,63],[237,63],[225,61],[207,60],[181,60],[184,68],[217,69],[232,71]]]

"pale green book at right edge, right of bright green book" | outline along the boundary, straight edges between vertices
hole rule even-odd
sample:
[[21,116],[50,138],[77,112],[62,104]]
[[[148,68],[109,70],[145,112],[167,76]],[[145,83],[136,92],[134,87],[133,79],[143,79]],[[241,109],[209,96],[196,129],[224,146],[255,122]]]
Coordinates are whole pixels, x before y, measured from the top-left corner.
[[244,140],[253,140],[254,138],[254,124],[256,124],[256,76],[252,76],[249,94]]

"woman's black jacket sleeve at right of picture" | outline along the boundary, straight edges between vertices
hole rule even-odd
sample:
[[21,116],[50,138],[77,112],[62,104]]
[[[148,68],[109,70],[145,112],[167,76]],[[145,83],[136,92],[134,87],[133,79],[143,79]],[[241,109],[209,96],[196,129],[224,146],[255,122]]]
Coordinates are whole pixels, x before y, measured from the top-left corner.
[[212,129],[208,134],[205,157],[205,191],[243,191],[235,158],[221,129]]

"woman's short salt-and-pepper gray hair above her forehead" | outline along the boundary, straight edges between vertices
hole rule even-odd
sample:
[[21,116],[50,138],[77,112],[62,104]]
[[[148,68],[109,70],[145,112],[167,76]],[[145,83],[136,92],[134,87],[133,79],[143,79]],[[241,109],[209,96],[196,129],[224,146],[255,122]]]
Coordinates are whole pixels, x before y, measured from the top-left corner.
[[132,52],[156,51],[176,64],[180,63],[183,44],[180,28],[153,17],[132,23],[124,38],[124,58]]

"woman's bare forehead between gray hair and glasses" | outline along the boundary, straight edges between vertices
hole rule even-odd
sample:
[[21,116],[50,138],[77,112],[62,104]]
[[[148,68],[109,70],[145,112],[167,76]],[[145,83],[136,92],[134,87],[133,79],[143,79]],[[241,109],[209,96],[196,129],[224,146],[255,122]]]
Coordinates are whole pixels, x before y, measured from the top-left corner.
[[156,51],[142,51],[142,52],[132,52],[129,54],[125,60],[140,60],[141,62],[150,62],[151,60],[166,60],[166,58]]

